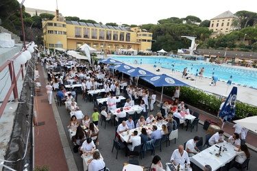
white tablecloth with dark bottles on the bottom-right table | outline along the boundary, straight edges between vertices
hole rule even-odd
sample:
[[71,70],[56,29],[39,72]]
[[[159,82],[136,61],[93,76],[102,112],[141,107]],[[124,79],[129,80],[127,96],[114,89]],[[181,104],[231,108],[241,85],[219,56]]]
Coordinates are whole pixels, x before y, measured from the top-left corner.
[[[217,147],[218,146],[218,147]],[[219,146],[227,148],[224,152],[221,152],[221,156],[217,157],[215,154],[219,153]],[[199,168],[204,169],[206,164],[212,167],[212,170],[218,170],[222,166],[225,166],[226,163],[229,163],[236,156],[237,148],[230,143],[222,142],[215,144],[206,150],[201,151],[197,155],[191,157],[191,161],[195,163]]]

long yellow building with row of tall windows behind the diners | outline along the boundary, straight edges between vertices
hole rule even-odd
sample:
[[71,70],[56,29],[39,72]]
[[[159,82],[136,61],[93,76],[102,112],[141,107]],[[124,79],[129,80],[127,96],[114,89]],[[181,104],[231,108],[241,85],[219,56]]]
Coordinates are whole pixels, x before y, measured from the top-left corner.
[[86,43],[97,51],[134,49],[150,51],[152,33],[139,27],[112,27],[78,21],[64,21],[58,12],[52,21],[43,21],[44,45],[47,48],[77,49]]

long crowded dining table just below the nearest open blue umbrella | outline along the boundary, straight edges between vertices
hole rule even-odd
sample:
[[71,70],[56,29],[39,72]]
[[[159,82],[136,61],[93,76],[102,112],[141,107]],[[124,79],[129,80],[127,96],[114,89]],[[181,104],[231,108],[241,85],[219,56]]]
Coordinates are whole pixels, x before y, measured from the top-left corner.
[[130,135],[133,135],[134,131],[138,131],[138,136],[141,134],[141,129],[145,128],[147,130],[147,133],[151,134],[153,131],[153,125],[156,125],[157,129],[162,131],[162,124],[167,124],[167,121],[160,120],[159,122],[152,122],[151,124],[146,124],[143,127],[137,127],[134,129],[130,129],[129,131],[119,133],[119,136],[121,137],[122,142],[127,142],[129,139]]

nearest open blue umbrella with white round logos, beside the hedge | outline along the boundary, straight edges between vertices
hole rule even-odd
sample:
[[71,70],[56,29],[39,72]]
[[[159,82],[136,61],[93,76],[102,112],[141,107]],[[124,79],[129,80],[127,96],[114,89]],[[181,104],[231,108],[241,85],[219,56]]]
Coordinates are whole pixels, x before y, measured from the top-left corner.
[[[142,77],[141,79],[151,83],[156,87],[162,87],[162,94],[163,94],[163,87],[171,87],[171,86],[189,86],[178,79],[174,79],[173,77],[169,77],[168,75],[156,75],[156,76],[149,76],[149,77]],[[162,101],[162,94],[160,97],[160,101]]]

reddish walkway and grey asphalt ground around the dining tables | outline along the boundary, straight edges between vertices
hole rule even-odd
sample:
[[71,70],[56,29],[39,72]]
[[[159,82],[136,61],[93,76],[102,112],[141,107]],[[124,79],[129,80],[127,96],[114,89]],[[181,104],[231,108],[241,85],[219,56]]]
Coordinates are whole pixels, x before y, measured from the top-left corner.
[[[35,109],[38,112],[38,122],[45,121],[45,125],[35,127],[35,166],[47,165],[51,166],[51,170],[83,170],[82,158],[78,153],[73,153],[73,145],[69,139],[69,134],[66,127],[69,123],[70,116],[64,105],[61,107],[57,106],[56,108],[57,104],[53,103],[51,109],[51,106],[45,102],[47,99],[44,88],[46,77],[43,77],[43,75],[45,76],[45,73],[42,72],[40,67],[39,72],[42,84],[40,94],[42,94],[42,96],[35,96],[35,100],[37,102],[37,104],[36,102],[35,104],[38,106],[35,107]],[[53,92],[53,96],[55,95],[56,92]],[[160,96],[158,96],[158,98],[160,98]],[[86,103],[83,101],[81,94],[79,94],[77,99],[77,105],[80,107],[80,109],[82,109],[84,114],[93,114],[93,103]],[[156,114],[157,109],[158,107],[155,107],[155,111],[151,112],[150,114]],[[212,116],[208,116],[206,114],[200,114],[199,118],[201,121],[206,120],[206,118],[210,118],[212,120],[215,119],[212,118]],[[99,126],[99,129],[100,142],[98,148],[101,152],[101,155],[103,155],[106,166],[108,166],[110,170],[121,170],[123,163],[127,162],[128,159],[125,157],[125,152],[123,150],[119,151],[118,159],[115,159],[115,149],[114,153],[111,153],[113,144],[112,139],[114,138],[115,132],[114,127],[111,127],[109,124],[107,124],[106,129],[103,129],[101,126]],[[230,124],[225,124],[224,130],[226,133],[232,133]],[[163,164],[169,162],[173,150],[178,148],[179,144],[184,144],[184,142],[194,137],[195,135],[204,137],[205,134],[206,131],[202,129],[201,124],[198,125],[198,131],[196,131],[195,128],[193,129],[192,133],[190,131],[186,131],[185,129],[180,129],[179,138],[176,144],[174,144],[174,140],[171,141],[171,146],[164,146],[162,152],[160,152],[160,150],[156,150],[156,155],[160,155]],[[256,135],[249,134],[247,137],[247,143],[253,144],[255,147],[257,146],[255,144],[256,140]],[[250,161],[249,166],[252,168],[252,170],[257,170],[257,166],[254,165],[253,162],[255,159],[257,159],[257,154],[253,150],[251,150],[250,153],[253,158]],[[147,153],[143,160],[139,160],[140,165],[148,167],[152,157],[153,156],[151,156],[150,153]]]

